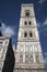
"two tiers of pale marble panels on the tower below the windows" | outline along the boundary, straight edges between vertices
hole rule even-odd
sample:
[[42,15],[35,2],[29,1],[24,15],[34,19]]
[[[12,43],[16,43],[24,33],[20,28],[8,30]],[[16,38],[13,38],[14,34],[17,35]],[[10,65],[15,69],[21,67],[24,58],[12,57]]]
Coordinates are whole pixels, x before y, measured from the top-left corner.
[[39,54],[40,50],[38,52],[38,49],[39,49],[39,43],[33,43],[33,42],[28,42],[28,43],[21,42],[21,43],[19,43],[20,54],[23,52],[22,55],[20,55],[21,61],[24,63],[25,62],[26,63],[39,62],[42,54]]

